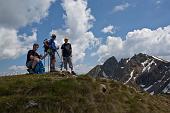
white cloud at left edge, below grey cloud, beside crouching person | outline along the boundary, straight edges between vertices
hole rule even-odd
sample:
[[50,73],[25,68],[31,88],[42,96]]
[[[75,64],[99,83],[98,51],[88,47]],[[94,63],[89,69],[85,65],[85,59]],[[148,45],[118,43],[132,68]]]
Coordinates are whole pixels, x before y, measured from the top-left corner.
[[32,36],[27,36],[17,35],[15,29],[0,28],[0,60],[15,59],[19,55],[25,54],[32,47],[32,43],[36,41],[36,37],[35,31]]

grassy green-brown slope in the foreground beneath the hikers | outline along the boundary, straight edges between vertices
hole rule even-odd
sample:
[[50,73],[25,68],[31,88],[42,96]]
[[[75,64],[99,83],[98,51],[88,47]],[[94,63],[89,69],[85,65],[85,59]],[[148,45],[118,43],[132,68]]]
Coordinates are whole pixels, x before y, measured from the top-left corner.
[[168,98],[88,76],[0,77],[0,113],[170,113]]

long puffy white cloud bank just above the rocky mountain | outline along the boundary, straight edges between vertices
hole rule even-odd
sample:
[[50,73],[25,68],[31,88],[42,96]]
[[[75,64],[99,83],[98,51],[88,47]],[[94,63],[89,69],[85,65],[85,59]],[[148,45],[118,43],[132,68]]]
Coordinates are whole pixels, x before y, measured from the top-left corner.
[[118,59],[131,57],[137,53],[146,53],[162,58],[170,56],[170,26],[151,30],[143,28],[127,33],[126,39],[108,36],[106,43],[102,44],[97,52],[99,61],[104,61],[111,56]]

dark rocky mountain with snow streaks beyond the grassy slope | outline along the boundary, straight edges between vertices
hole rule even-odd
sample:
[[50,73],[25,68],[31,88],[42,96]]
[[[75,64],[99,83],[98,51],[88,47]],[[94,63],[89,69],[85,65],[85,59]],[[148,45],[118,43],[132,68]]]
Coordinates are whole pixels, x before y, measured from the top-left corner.
[[120,62],[113,56],[88,75],[118,80],[151,94],[170,94],[170,62],[142,53]]

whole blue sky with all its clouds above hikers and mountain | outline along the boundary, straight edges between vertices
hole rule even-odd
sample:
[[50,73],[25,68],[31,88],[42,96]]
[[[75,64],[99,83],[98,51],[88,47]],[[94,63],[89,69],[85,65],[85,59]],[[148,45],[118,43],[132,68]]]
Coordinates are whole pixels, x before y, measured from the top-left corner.
[[69,37],[77,73],[111,56],[145,53],[169,61],[169,6],[169,0],[0,0],[0,75],[26,73],[28,50],[38,43],[44,54],[43,40],[52,33],[59,47]]

